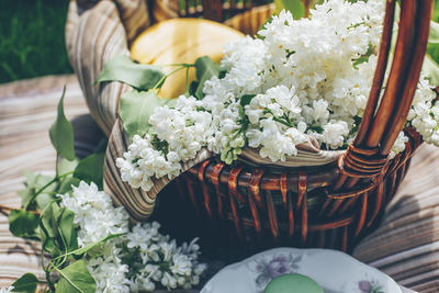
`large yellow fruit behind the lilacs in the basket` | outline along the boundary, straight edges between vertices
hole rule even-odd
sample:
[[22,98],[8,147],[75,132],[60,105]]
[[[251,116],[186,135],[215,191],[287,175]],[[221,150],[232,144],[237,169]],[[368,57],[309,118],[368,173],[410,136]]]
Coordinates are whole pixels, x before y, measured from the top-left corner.
[[[173,19],[159,22],[143,32],[131,47],[131,57],[142,64],[158,66],[193,64],[198,57],[210,56],[215,63],[223,57],[224,45],[243,37],[239,31],[201,19]],[[164,67],[170,72],[176,67]],[[195,70],[189,71],[189,82]],[[170,76],[160,90],[162,98],[177,98],[185,89],[185,70]]]

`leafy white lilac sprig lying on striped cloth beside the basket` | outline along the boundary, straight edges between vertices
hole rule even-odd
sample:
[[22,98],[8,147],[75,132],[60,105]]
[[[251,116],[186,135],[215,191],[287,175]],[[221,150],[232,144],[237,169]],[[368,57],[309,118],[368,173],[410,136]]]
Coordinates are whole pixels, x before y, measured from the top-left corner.
[[[65,93],[65,92],[64,92]],[[23,274],[0,292],[138,292],[198,285],[206,264],[196,238],[177,245],[157,222],[130,224],[127,211],[102,191],[106,142],[79,159],[74,129],[64,113],[64,93],[52,125],[55,176],[25,172],[22,207],[9,216],[10,232],[40,240],[46,280]]]

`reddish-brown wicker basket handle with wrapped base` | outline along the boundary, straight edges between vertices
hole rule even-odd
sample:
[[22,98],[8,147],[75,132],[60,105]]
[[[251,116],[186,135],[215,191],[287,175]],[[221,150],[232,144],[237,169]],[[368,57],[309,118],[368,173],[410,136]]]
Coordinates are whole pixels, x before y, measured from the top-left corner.
[[[379,176],[384,170],[391,148],[404,127],[412,105],[427,49],[432,0],[401,1],[398,36],[383,90],[395,2],[386,1],[380,54],[368,104],[356,138],[339,160],[340,178],[335,185],[336,190],[349,188],[360,178]],[[347,178],[351,178],[350,183],[346,182]]]

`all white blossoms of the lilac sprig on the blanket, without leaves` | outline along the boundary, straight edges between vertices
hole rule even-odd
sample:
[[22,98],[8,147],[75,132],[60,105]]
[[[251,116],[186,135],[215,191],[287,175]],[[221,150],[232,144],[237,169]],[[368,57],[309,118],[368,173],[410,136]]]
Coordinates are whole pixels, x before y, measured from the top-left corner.
[[[126,234],[87,252],[86,262],[97,282],[97,292],[151,292],[159,283],[168,289],[190,289],[205,271],[206,266],[198,261],[196,238],[178,246],[159,233],[157,222],[128,229],[127,212],[114,207],[110,195],[99,191],[94,183],[81,181],[71,195],[59,196],[61,204],[75,213],[80,247],[111,234]],[[124,262],[126,259],[131,261]]]

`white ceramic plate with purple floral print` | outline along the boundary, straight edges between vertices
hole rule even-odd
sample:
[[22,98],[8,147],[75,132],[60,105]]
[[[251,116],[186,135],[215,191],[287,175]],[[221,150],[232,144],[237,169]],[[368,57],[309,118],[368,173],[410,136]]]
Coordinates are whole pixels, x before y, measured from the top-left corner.
[[314,279],[325,293],[402,293],[389,275],[354,258],[329,249],[275,248],[227,266],[201,293],[262,293],[285,273]]

